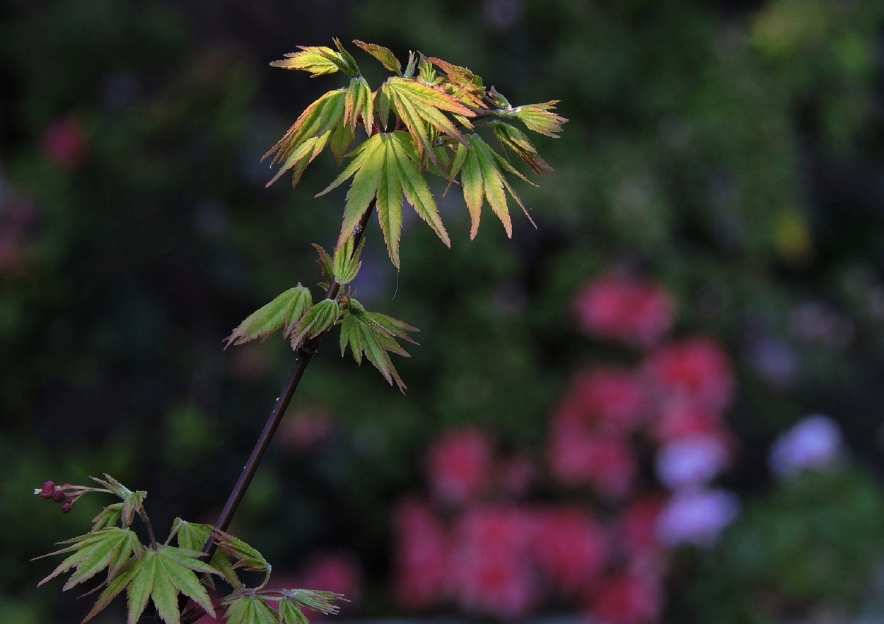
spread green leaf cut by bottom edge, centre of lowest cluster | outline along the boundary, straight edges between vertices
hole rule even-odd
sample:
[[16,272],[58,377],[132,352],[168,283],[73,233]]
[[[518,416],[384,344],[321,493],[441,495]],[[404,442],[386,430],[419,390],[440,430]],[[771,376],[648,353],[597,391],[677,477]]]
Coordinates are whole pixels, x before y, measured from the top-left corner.
[[160,546],[156,551],[148,549],[126,588],[128,624],[138,621],[149,599],[166,624],[180,624],[179,593],[190,597],[206,613],[215,617],[209,594],[195,573],[220,573],[202,562],[199,559],[201,556],[202,552],[168,545]]

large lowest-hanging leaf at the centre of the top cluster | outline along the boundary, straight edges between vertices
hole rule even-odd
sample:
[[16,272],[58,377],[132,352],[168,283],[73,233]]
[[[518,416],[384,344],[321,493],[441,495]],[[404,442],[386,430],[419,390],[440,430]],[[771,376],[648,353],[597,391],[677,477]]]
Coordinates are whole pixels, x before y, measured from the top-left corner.
[[353,162],[319,195],[326,194],[345,180],[353,178],[347,191],[344,221],[338,247],[353,236],[356,224],[377,202],[377,220],[393,265],[399,268],[399,240],[402,230],[402,197],[414,207],[447,247],[451,247],[445,225],[438,214],[430,186],[419,169],[419,157],[408,133],[377,133],[356,148]]

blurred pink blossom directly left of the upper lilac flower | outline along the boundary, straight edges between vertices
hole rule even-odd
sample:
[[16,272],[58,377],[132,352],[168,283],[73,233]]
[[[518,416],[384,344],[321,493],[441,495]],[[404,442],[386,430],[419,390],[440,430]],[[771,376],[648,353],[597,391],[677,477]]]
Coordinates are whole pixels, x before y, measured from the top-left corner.
[[629,439],[567,419],[552,423],[548,455],[552,474],[562,483],[590,484],[610,498],[625,495],[636,475]]

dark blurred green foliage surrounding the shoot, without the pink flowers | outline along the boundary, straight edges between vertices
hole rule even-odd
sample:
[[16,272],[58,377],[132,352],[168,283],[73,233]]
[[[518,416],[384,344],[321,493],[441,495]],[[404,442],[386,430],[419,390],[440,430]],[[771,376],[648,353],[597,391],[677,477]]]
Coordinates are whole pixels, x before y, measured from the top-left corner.
[[[333,35],[467,65],[513,102],[560,99],[571,121],[538,141],[553,177],[518,189],[537,231],[516,219],[513,241],[489,224],[469,242],[451,194],[453,250],[407,222],[397,273],[370,228],[360,301],[420,327],[423,344],[396,363],[406,398],[333,346],[310,367],[289,419],[318,410],[331,431],[276,445],[233,527],[277,569],[352,549],[363,612],[390,613],[389,504],[418,482],[427,440],[471,422],[541,444],[589,353],[571,297],[612,265],[661,279],[679,330],[737,358],[735,490],[762,487],[767,442],[811,408],[880,463],[882,26],[877,0],[5,0],[0,613],[85,613],[34,590],[49,564],[27,559],[92,517],[41,505],[30,491],[46,479],[109,472],[150,492],[160,533],[176,515],[214,520],[293,359],[280,340],[222,340],[319,279],[309,243],[331,245],[343,205],[311,198],[328,162],[296,194],[263,188],[263,152],[324,90],[267,63]],[[799,514],[783,496],[733,539]],[[765,574],[797,569],[799,546],[783,542]],[[815,579],[794,591],[846,596]]]

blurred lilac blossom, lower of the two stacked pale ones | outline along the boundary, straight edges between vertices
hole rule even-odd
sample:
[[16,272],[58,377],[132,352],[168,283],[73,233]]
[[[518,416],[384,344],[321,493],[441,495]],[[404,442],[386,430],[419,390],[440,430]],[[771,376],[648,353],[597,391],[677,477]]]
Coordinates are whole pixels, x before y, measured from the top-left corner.
[[740,511],[736,496],[723,490],[676,494],[660,512],[657,531],[667,546],[709,547]]

